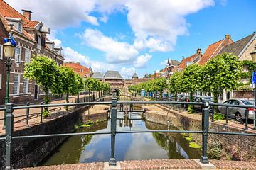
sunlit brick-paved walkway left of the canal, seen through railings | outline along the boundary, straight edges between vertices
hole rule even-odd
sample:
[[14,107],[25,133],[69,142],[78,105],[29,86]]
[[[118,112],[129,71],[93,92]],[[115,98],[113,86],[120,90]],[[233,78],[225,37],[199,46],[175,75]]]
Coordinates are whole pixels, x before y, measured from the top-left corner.
[[[84,94],[80,95],[80,101],[83,101],[84,98]],[[89,96],[88,94],[86,96]],[[77,96],[70,96],[69,98],[69,103],[75,103]],[[82,98],[82,100],[81,100]],[[33,102],[34,103],[38,103],[40,104],[41,102]],[[62,98],[60,100],[55,100],[55,101],[51,101],[51,103],[53,104],[58,104],[58,103],[66,103],[65,99]],[[21,104],[21,103],[19,103]],[[24,105],[26,105],[26,103],[24,103]],[[70,109],[74,108],[74,106],[69,106]],[[50,110],[50,114],[55,112],[55,111],[65,111],[65,107],[51,107],[49,108]],[[29,115],[33,114],[33,113],[41,113],[41,108],[30,108],[29,109]],[[27,128],[26,126],[26,109],[18,109],[18,110],[14,110],[14,130],[21,130],[24,128]],[[22,117],[18,117],[17,116],[21,116],[24,115]],[[4,118],[4,111],[0,111],[0,119]],[[43,118],[43,122],[48,121],[49,118]],[[41,121],[41,114],[38,114],[38,116],[33,116],[32,118],[29,118],[28,121],[28,125],[32,126],[32,125],[36,125],[38,123],[40,123]],[[5,130],[2,129],[4,125],[4,120],[0,120],[0,135],[4,135]]]

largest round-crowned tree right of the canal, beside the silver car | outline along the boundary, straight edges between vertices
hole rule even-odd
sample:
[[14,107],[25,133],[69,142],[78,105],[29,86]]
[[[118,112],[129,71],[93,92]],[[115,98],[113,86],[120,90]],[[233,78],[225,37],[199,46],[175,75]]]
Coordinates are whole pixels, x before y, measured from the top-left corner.
[[230,53],[218,55],[206,64],[206,79],[215,103],[218,103],[218,94],[223,93],[224,89],[232,91],[238,86],[241,72],[241,62]]

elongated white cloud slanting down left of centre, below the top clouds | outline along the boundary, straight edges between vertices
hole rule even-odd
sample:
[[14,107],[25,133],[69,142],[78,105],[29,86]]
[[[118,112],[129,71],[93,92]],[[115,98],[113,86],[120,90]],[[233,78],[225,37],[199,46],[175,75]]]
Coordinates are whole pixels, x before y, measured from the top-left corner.
[[90,47],[105,52],[109,63],[130,63],[138,55],[138,51],[132,45],[107,37],[99,30],[86,29],[81,37]]

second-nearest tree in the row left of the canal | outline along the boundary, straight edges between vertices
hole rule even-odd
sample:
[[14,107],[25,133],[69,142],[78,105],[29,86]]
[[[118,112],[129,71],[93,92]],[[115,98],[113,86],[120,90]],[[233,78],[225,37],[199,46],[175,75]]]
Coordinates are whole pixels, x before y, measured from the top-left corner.
[[[60,76],[59,86],[61,91],[59,93],[66,94],[66,102],[69,103],[68,97],[70,94],[77,94],[78,88],[76,86],[75,73],[69,67],[58,67],[58,72]],[[66,106],[68,110],[68,106]]]

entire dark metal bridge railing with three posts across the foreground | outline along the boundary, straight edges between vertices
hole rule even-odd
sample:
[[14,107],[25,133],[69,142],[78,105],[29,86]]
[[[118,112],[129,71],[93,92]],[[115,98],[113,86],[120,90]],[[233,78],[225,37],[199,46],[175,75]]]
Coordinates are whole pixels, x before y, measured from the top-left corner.
[[[91,105],[111,105],[111,128],[110,132],[75,132],[75,133],[59,133],[59,134],[48,134],[48,135],[26,135],[26,136],[14,136],[14,110],[18,109],[28,109],[28,108],[41,108],[41,107],[61,107],[61,106],[91,106]],[[203,106],[202,113],[202,126],[201,130],[132,130],[132,131],[117,131],[117,105],[124,104],[174,104],[174,105],[201,105]],[[0,137],[0,140],[5,140],[6,143],[6,169],[12,169],[11,166],[11,147],[12,140],[18,139],[31,139],[31,138],[41,138],[41,137],[67,137],[75,135],[111,135],[111,155],[110,155],[110,166],[116,166],[117,161],[114,157],[114,147],[115,147],[115,135],[120,133],[148,133],[148,132],[167,132],[167,133],[197,133],[202,135],[202,156],[201,163],[209,164],[207,157],[207,145],[208,145],[208,135],[247,135],[256,136],[256,133],[239,133],[239,132],[215,132],[209,131],[209,105],[210,103],[197,103],[197,102],[175,102],[175,101],[117,101],[117,98],[112,98],[112,101],[107,102],[81,102],[81,103],[59,103],[59,104],[45,104],[45,105],[27,105],[27,106],[14,106],[12,103],[7,103],[5,108],[0,108],[0,111],[6,110],[6,135],[5,137]],[[211,104],[212,106],[233,106],[225,104]],[[255,108],[252,106],[239,106],[242,108]]]

